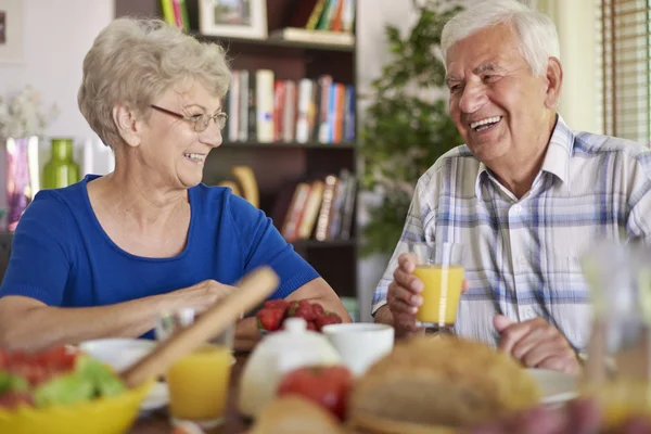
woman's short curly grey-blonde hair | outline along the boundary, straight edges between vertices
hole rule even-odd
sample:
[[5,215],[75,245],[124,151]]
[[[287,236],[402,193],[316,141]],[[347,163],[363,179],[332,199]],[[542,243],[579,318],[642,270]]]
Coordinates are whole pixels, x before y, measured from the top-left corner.
[[157,97],[193,80],[222,99],[231,77],[218,44],[200,42],[161,20],[128,17],[114,20],[98,35],[84,59],[82,73],[79,110],[113,149],[122,143],[113,120],[116,104],[149,116]]

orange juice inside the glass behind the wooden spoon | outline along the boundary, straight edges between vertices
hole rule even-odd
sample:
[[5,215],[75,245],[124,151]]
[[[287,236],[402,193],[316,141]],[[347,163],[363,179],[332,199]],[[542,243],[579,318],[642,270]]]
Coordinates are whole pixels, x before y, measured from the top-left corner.
[[204,345],[173,363],[167,371],[171,416],[219,421],[226,410],[231,360],[229,348]]

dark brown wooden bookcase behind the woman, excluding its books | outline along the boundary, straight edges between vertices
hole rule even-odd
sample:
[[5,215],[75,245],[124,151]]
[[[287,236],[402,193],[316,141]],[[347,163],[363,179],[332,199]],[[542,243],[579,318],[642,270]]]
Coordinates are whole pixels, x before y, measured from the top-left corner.
[[[335,82],[357,85],[355,44],[316,43],[285,40],[277,35],[288,26],[292,12],[303,0],[267,0],[267,39],[245,39],[201,35],[196,0],[186,0],[190,30],[201,40],[216,41],[227,49],[233,71],[271,69],[275,79],[317,79],[329,75]],[[115,0],[116,16],[162,16],[159,0]],[[251,74],[254,76],[254,74]],[[354,108],[354,112],[357,112]],[[357,113],[355,113],[357,118]],[[323,179],[347,169],[357,174],[357,148],[354,141],[322,143],[315,140],[298,142],[225,141],[213,150],[205,163],[204,182],[217,184],[229,177],[234,165],[246,165],[255,174],[259,189],[259,207],[273,219],[277,228],[283,225],[283,203],[289,206],[296,183]],[[356,202],[356,201],[355,201]],[[286,209],[284,209],[286,212]],[[357,228],[356,205],[352,209],[348,239],[296,240],[292,244],[340,296],[357,296]]]

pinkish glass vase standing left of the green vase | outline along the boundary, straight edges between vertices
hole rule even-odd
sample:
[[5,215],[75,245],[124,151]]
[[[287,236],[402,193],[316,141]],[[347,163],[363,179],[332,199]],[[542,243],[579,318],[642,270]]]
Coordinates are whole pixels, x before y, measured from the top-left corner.
[[35,152],[38,153],[36,136],[7,139],[7,229],[12,232],[35,194],[34,174],[30,174],[30,166],[33,169],[35,166],[30,164],[30,155],[34,158]]

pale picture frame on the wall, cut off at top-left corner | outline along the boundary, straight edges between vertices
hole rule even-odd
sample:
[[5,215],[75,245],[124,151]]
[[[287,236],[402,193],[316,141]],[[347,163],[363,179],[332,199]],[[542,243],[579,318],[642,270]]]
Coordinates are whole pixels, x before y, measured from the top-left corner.
[[0,0],[0,63],[22,63],[23,44],[23,1]]

